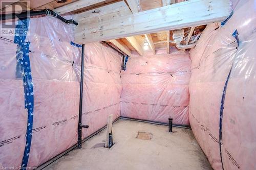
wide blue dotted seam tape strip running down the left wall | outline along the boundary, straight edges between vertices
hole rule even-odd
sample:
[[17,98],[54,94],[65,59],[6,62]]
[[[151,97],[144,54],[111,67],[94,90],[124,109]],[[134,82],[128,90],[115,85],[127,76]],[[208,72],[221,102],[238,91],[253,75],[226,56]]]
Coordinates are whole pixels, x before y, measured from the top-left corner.
[[[28,32],[29,19],[18,20],[18,25],[15,29],[14,43],[17,44],[17,67],[22,75],[23,85],[24,85],[24,98],[25,98],[25,109],[28,110],[28,124],[26,132],[26,145],[22,160],[21,169],[26,169],[29,152],[32,140],[32,128],[33,128],[33,112],[34,112],[34,93],[33,93],[33,82],[31,75],[31,67],[29,60],[29,45],[30,42],[26,42],[26,36]],[[17,75],[16,76],[20,76]]]

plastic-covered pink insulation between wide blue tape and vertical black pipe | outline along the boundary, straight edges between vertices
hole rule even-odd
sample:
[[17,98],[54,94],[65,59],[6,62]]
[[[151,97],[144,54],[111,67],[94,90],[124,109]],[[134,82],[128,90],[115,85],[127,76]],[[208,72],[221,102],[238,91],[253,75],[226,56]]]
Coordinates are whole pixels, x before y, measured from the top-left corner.
[[30,19],[29,31],[34,131],[28,166],[38,166],[77,142],[79,82],[75,72],[80,50],[70,44],[70,26],[53,18]]

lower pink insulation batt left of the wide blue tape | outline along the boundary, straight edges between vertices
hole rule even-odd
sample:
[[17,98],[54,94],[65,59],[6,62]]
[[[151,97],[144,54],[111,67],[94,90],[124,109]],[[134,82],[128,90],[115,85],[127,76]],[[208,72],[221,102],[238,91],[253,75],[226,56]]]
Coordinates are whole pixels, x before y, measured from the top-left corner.
[[27,129],[23,81],[0,79],[0,87],[0,166],[18,167],[22,163]]

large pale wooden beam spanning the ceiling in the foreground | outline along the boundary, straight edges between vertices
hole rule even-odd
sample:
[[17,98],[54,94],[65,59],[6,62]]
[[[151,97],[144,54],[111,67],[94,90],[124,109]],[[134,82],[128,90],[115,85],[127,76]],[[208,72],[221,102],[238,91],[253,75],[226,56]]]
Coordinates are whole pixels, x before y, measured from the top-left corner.
[[75,27],[75,42],[84,44],[201,26],[225,20],[228,16],[229,0],[190,0],[92,25],[84,24],[86,19],[81,20]]

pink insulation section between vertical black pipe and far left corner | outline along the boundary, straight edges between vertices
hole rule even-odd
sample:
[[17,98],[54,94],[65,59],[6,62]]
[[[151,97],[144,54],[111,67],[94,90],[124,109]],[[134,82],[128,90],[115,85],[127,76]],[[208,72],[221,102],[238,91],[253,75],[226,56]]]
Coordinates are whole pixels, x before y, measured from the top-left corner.
[[100,43],[85,46],[82,123],[86,137],[106,125],[108,115],[120,116],[122,56]]

